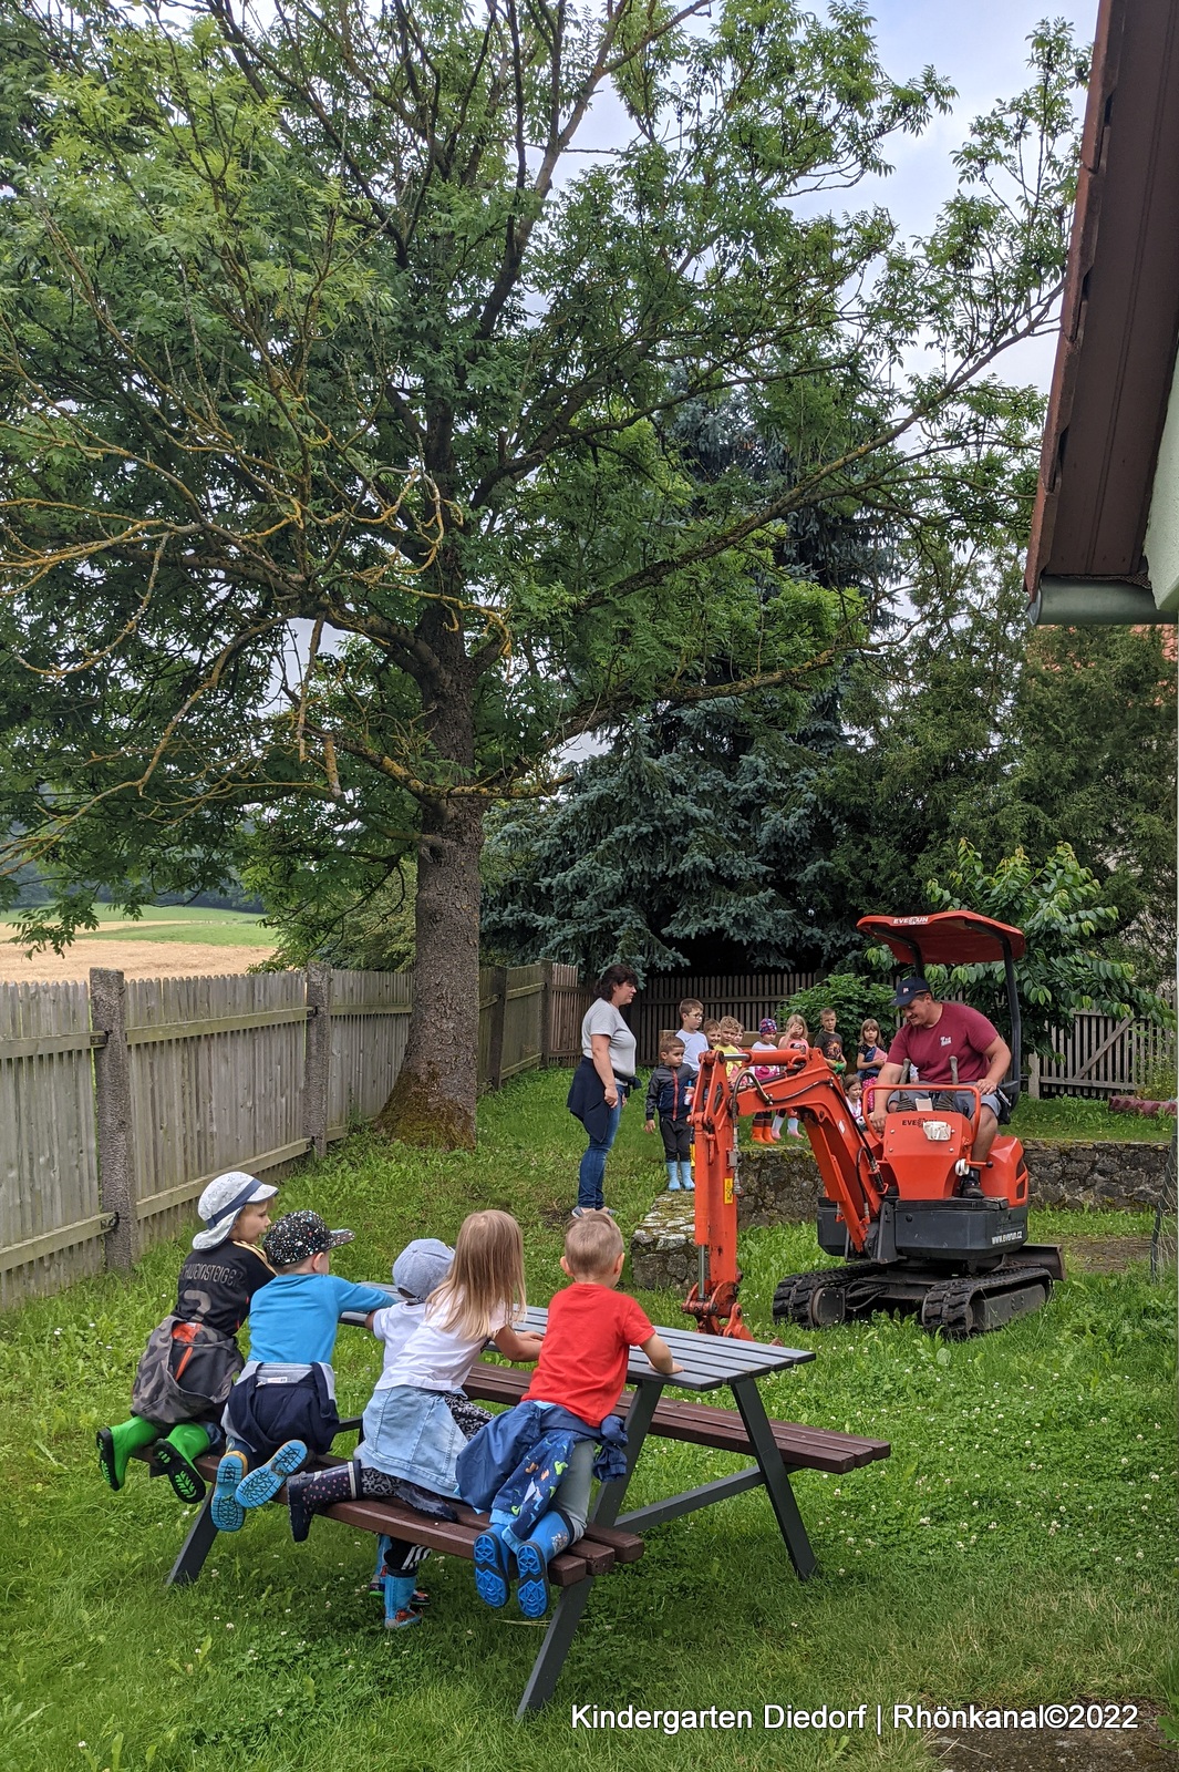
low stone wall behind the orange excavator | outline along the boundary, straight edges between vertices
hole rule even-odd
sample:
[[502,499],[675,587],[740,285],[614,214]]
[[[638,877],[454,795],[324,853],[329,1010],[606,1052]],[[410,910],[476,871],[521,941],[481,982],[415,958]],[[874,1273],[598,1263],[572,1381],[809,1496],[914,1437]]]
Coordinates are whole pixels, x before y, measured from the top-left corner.
[[[1029,1139],[1023,1146],[1034,1207],[1067,1210],[1154,1209],[1170,1146],[1165,1143],[1052,1145]],[[821,1193],[809,1145],[749,1150],[740,1155],[742,1230],[765,1224],[807,1224]],[[660,1194],[630,1239],[636,1286],[685,1286],[696,1279],[692,1194]]]

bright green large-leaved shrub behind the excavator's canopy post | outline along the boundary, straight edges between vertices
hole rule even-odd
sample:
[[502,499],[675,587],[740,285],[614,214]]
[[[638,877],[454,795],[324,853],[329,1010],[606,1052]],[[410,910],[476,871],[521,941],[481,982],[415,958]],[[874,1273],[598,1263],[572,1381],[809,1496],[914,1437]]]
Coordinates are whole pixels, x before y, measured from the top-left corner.
[[[935,911],[979,911],[1023,930],[1027,953],[1016,960],[1016,987],[1025,1053],[1050,1056],[1055,1030],[1067,1026],[1076,1010],[1174,1026],[1174,1010],[1137,983],[1128,962],[1101,955],[1098,939],[1117,927],[1117,911],[1099,902],[1101,882],[1069,843],[1059,843],[1041,867],[1016,849],[988,874],[979,851],[963,838],[947,884],[929,881],[926,891]],[[885,969],[896,966],[887,948],[869,948],[867,957]],[[958,987],[997,1026],[1006,1024],[1002,966],[928,966],[926,975],[935,992]]]

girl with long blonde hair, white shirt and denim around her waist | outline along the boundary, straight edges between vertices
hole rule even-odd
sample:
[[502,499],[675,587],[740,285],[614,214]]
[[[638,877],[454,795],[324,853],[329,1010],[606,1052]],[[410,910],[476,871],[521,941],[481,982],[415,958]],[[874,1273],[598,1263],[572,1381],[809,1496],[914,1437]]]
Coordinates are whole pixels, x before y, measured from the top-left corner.
[[[395,1499],[421,1513],[453,1519],[455,1458],[489,1419],[462,1386],[483,1345],[531,1364],[540,1336],[515,1325],[524,1315],[524,1240],[508,1212],[473,1212],[462,1221],[450,1274],[427,1299],[421,1324],[389,1361],[365,1411],[356,1458],[287,1483],[290,1533],[306,1538],[312,1517],[338,1501]],[[372,1325],[372,1320],[370,1320]],[[414,1574],[421,1545],[389,1540],[384,1554],[384,1621],[404,1630],[421,1621]]]

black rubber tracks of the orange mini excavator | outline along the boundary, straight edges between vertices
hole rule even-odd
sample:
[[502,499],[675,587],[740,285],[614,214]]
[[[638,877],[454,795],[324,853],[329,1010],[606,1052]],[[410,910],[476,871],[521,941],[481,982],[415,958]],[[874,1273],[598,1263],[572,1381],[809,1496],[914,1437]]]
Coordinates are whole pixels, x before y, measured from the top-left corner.
[[1050,1267],[1018,1260],[954,1279],[919,1278],[903,1267],[821,1267],[779,1281],[774,1322],[834,1329],[876,1310],[908,1308],[931,1334],[965,1341],[1041,1310],[1057,1278]]

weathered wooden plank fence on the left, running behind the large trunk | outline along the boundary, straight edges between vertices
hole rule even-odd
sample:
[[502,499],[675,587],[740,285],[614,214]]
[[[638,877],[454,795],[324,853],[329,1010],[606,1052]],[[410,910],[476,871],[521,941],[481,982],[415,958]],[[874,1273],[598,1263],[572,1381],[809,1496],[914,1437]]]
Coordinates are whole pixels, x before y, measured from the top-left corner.
[[[482,971],[482,1086],[551,1061],[574,985]],[[411,1006],[409,973],[328,968],[0,983],[0,1306],[127,1267],[214,1175],[276,1175],[372,1120]]]

